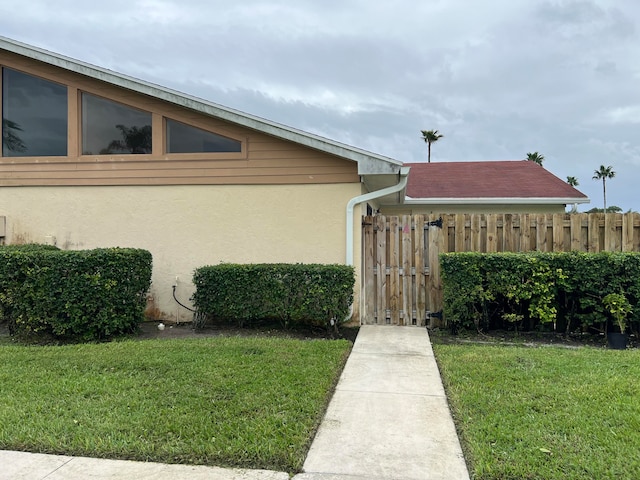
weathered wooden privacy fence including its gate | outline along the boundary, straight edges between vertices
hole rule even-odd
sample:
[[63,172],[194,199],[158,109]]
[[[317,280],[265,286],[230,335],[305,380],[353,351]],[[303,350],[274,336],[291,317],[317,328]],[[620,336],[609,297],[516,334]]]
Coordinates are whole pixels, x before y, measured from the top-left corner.
[[441,318],[443,252],[640,251],[640,214],[455,214],[362,220],[366,324]]

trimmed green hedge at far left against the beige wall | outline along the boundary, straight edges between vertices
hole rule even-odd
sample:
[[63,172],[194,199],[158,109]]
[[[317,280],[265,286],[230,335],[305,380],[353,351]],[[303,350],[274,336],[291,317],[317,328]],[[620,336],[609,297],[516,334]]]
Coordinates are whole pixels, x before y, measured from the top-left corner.
[[19,336],[104,340],[136,331],[151,253],[129,248],[0,248],[0,319]]

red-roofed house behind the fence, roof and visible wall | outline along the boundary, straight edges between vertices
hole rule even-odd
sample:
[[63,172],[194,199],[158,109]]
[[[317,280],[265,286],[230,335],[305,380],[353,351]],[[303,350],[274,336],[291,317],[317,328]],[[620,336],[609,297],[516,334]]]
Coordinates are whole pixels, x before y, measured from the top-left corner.
[[563,213],[589,203],[582,192],[530,161],[410,163],[402,204],[386,214]]

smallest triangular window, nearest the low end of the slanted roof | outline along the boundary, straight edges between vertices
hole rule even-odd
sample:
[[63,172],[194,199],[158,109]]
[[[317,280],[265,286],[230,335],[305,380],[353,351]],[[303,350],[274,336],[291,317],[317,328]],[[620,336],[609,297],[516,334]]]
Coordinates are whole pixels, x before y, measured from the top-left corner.
[[240,152],[238,140],[167,118],[167,153]]

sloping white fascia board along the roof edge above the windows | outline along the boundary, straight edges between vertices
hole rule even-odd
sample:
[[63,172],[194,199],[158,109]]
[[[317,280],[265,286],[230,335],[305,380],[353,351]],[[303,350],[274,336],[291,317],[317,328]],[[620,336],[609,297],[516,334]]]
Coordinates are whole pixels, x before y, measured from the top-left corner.
[[198,97],[187,95],[154,83],[139,80],[128,75],[81,62],[64,55],[33,47],[0,36],[0,49],[54,65],[71,72],[79,73],[96,80],[116,85],[127,90],[165,100],[197,112],[221,118],[231,123],[257,130],[274,137],[304,145],[315,150],[330,153],[354,162],[358,162],[358,174],[399,173],[402,162],[384,155],[378,155],[360,148],[352,147],[320,135],[304,132],[255,115],[224,107]]

